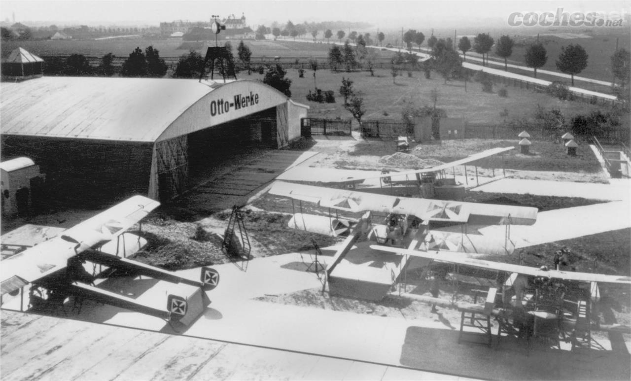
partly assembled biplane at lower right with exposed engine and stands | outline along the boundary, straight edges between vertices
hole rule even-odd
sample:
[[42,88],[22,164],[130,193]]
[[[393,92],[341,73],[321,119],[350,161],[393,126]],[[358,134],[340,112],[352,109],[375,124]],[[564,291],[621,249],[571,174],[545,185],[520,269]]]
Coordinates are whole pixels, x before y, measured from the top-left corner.
[[[462,303],[457,305],[462,312],[459,341],[463,339],[463,327],[480,329],[492,343],[490,317],[499,322],[498,338],[502,334],[516,334],[526,328],[529,336],[551,339],[552,346],[560,347],[560,337],[569,339],[572,350],[590,349],[594,344],[591,337],[594,305],[601,300],[599,284],[630,285],[630,276],[613,274],[581,273],[565,271],[559,267],[530,267],[468,257],[467,253],[440,252],[415,249],[398,249],[383,245],[371,245],[371,249],[398,255],[410,255],[428,261],[445,262],[456,266],[475,267],[486,271],[509,273],[502,284],[490,286],[485,305]],[[457,268],[457,267],[456,267]],[[457,271],[457,270],[456,270]],[[500,302],[496,299],[501,290]],[[479,290],[478,290],[479,291]],[[514,293],[512,298],[507,296]],[[496,308],[497,307],[497,308]],[[598,308],[596,308],[598,310]],[[526,317],[526,319],[524,319]],[[509,323],[512,319],[512,324]],[[529,319],[529,320],[528,320]],[[597,324],[601,331],[611,334],[630,334],[631,327],[622,324]],[[516,329],[517,327],[517,329]],[[566,336],[565,332],[569,331]],[[626,348],[622,349],[627,352]]]

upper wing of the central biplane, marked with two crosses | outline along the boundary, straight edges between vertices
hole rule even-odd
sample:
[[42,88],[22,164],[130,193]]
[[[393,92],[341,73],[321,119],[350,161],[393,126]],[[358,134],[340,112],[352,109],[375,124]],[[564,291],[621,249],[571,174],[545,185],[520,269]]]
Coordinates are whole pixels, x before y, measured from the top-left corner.
[[406,214],[426,221],[466,223],[473,216],[478,225],[533,225],[537,218],[537,208],[526,206],[386,196],[288,182],[275,182],[269,193],[342,211]]

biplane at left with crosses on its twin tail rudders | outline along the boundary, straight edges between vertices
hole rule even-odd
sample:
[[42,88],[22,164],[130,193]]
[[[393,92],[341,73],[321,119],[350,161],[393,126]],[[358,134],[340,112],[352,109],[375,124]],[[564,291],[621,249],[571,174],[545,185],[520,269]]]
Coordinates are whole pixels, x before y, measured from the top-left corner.
[[[147,197],[133,196],[44,242],[32,247],[21,246],[14,255],[3,255],[1,295],[7,298],[7,294],[19,294],[20,310],[28,288],[28,305],[32,308],[55,302],[63,305],[69,296],[73,296],[75,302],[88,298],[160,317],[170,324],[189,324],[210,303],[204,291],[217,286],[217,271],[203,267],[199,280],[189,279],[127,258],[146,244],[144,238],[128,230],[159,205]],[[8,247],[3,242],[3,250]],[[86,271],[90,267],[91,274]],[[171,284],[169,289],[176,292],[184,290],[179,284],[192,286],[195,291],[190,295],[169,293],[156,305],[132,298],[122,291],[100,287],[117,273],[166,281]]]

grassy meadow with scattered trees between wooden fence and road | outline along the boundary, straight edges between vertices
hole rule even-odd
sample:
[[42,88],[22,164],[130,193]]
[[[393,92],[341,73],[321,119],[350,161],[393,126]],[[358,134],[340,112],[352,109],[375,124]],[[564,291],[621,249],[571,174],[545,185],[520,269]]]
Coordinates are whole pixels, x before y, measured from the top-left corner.
[[[317,87],[335,91],[336,103],[317,103],[309,102],[306,98],[309,90],[314,90],[313,71],[305,70],[304,78],[299,78],[297,69],[288,69],[287,72],[287,78],[292,79],[293,100],[309,105],[310,117],[352,118],[350,112],[343,107],[343,98],[339,96],[342,78],[350,78],[354,82],[355,91],[364,98],[367,110],[363,116],[365,120],[401,120],[404,100],[412,100],[418,106],[432,105],[430,91],[433,88],[439,91],[437,107],[443,108],[448,117],[461,117],[469,122],[488,125],[502,123],[504,117],[500,116],[500,112],[504,109],[509,112],[507,119],[529,119],[538,105],[546,108],[555,107],[563,112],[566,120],[569,120],[574,115],[587,114],[603,108],[582,102],[562,101],[544,93],[511,86],[507,87],[508,97],[505,98],[497,95],[498,86],[493,88],[493,93],[485,93],[481,90],[480,83],[476,82],[469,82],[465,92],[464,82],[449,81],[445,84],[435,72],[432,72],[430,79],[425,79],[420,72],[413,72],[412,77],[408,77],[408,73],[404,72],[402,76],[396,77],[393,83],[391,72],[387,69],[375,70],[375,76],[370,76],[370,73],[364,71],[333,73],[330,70],[318,70],[315,73]],[[262,76],[240,73],[239,78],[262,79]]]

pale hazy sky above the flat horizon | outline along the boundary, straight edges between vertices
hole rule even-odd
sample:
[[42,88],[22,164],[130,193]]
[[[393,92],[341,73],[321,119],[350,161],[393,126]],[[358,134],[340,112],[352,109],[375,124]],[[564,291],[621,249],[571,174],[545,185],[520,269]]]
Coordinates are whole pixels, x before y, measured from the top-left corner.
[[625,1],[0,1],[0,20],[60,23],[115,23],[136,21],[208,20],[245,13],[249,25],[271,21],[366,21],[381,28],[401,23],[415,25],[479,25],[483,20],[507,20],[512,12],[555,11],[630,12]]

